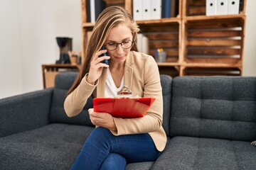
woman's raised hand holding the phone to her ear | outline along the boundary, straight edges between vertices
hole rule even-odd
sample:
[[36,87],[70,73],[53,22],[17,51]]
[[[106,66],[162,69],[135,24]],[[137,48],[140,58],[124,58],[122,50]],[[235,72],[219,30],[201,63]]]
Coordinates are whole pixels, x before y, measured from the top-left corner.
[[108,64],[102,63],[103,60],[109,60],[110,56],[102,56],[103,53],[107,52],[107,50],[100,50],[96,52],[94,56],[92,56],[92,60],[90,62],[90,70],[87,77],[87,82],[90,84],[94,84],[97,79],[100,78],[102,74],[102,69],[104,67],[109,67]]

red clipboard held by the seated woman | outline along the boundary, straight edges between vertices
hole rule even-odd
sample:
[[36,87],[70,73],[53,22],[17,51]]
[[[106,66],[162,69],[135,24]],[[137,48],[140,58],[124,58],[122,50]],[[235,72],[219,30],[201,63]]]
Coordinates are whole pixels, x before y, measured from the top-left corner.
[[94,98],[93,108],[115,118],[142,118],[154,101],[155,98]]

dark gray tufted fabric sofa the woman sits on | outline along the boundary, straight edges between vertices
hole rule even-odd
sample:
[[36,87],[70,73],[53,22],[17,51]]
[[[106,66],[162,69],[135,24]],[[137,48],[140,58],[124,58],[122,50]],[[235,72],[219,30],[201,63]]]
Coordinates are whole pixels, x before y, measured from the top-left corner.
[[[0,169],[70,169],[94,129],[87,109],[68,118],[65,94],[76,73],[54,89],[0,100]],[[256,77],[161,75],[166,149],[156,162],[126,169],[256,169]]]

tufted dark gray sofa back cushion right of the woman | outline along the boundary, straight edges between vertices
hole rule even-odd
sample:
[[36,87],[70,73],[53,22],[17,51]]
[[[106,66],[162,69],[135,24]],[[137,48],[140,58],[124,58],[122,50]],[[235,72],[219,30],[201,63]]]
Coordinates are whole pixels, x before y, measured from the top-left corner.
[[256,140],[256,77],[175,77],[171,136]]

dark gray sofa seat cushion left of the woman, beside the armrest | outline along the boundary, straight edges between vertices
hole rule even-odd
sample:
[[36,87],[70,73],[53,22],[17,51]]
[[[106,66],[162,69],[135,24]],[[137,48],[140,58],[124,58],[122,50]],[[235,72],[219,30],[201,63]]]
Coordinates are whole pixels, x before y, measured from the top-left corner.
[[0,138],[0,169],[70,169],[94,128],[50,124]]

